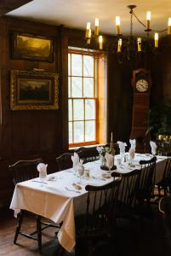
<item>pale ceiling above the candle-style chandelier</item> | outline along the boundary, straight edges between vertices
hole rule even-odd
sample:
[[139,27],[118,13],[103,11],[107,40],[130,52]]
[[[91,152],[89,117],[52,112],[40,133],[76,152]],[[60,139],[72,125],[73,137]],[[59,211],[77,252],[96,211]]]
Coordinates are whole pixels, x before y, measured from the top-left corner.
[[[145,23],[145,13],[151,11],[151,28],[162,30],[171,17],[171,0],[34,0],[9,12],[10,16],[39,20],[52,25],[85,29],[87,21],[100,19],[100,32],[116,34],[115,16],[121,16],[121,32],[129,33],[130,15],[128,4],[135,4],[135,14]],[[134,19],[134,34],[144,33],[144,28]]]

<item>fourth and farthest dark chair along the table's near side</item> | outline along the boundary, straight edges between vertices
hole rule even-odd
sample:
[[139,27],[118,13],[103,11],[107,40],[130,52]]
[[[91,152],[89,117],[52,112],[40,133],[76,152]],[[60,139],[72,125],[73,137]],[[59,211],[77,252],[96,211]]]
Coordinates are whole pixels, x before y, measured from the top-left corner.
[[162,181],[157,183],[157,188],[158,188],[158,196],[161,197],[161,190],[164,190],[164,196],[167,196],[168,194],[168,189],[169,193],[171,195],[171,157],[168,157],[168,160],[166,162],[163,176],[162,176]]

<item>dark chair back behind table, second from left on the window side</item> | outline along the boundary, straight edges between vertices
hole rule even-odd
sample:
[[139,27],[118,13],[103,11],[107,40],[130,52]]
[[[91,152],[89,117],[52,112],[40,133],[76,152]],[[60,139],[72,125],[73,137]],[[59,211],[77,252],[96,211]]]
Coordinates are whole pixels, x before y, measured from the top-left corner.
[[56,162],[58,165],[58,171],[66,170],[72,167],[71,153],[64,153],[56,157]]

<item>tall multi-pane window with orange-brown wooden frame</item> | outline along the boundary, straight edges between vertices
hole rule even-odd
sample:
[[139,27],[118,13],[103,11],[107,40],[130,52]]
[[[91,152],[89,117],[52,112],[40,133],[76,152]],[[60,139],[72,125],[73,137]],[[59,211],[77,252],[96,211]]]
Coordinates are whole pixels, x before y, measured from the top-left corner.
[[97,143],[97,67],[93,53],[69,49],[68,106],[69,144]]

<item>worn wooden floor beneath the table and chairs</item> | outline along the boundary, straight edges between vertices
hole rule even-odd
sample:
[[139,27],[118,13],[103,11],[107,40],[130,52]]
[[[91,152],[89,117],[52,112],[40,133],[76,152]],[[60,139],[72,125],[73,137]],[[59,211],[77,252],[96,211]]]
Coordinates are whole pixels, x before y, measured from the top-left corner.
[[[143,224],[143,230],[140,223],[134,224],[134,232],[131,232],[128,224],[120,223],[116,234],[116,242],[113,247],[109,247],[105,242],[100,241],[97,247],[98,256],[163,256],[162,244],[162,218],[157,207],[154,208],[154,221],[146,220]],[[35,220],[26,218],[23,230],[34,230]],[[19,236],[18,245],[14,245],[14,230],[16,220],[12,211],[4,212],[0,210],[0,255],[8,256],[34,256],[39,255],[37,251],[37,241],[26,239]],[[54,232],[54,228],[43,231],[43,255],[58,256],[59,245]],[[81,250],[82,252],[82,250]],[[65,252],[64,256],[74,256],[74,250],[71,253]],[[171,255],[171,252],[166,254]],[[86,256],[84,252],[78,256]],[[165,255],[164,255],[165,256]]]

